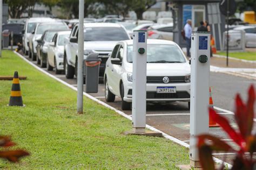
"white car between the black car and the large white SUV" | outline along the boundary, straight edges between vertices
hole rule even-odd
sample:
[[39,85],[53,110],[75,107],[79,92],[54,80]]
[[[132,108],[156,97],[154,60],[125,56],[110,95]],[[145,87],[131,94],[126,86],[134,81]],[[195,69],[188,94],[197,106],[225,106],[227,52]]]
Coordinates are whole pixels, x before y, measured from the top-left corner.
[[64,70],[64,40],[70,36],[71,31],[59,31],[49,43],[47,62],[51,68],[55,68],[55,73],[60,74]]

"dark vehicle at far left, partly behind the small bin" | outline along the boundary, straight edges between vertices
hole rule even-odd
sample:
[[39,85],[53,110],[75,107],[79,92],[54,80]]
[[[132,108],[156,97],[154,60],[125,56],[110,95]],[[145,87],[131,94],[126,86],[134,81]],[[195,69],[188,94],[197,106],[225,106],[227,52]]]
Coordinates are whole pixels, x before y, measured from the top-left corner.
[[11,32],[14,32],[14,45],[17,45],[18,42],[22,44],[22,30],[24,24],[4,24],[2,30],[9,30],[9,45],[11,45]]

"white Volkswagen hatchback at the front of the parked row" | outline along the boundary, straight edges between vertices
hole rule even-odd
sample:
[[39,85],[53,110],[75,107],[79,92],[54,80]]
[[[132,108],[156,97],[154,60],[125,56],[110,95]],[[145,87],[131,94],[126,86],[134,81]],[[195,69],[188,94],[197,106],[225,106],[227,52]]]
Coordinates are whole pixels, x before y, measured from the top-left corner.
[[[106,62],[105,98],[122,98],[122,109],[131,109],[132,40],[120,41]],[[190,107],[190,65],[173,41],[147,40],[147,101],[183,101]]]

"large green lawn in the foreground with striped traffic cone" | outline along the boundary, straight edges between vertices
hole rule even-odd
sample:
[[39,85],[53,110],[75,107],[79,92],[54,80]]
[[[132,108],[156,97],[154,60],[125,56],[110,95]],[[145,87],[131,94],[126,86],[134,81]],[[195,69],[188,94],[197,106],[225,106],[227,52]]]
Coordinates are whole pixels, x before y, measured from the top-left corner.
[[165,138],[125,136],[131,121],[84,97],[76,113],[76,91],[31,67],[10,51],[0,58],[0,75],[21,81],[26,107],[7,107],[12,81],[0,81],[0,130],[31,155],[0,168],[169,168],[188,164],[188,149]]

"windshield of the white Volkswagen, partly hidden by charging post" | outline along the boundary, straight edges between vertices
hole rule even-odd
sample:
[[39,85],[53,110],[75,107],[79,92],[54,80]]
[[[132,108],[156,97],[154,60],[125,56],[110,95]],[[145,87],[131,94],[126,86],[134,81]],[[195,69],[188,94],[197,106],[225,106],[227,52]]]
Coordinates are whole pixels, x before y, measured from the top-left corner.
[[[132,63],[132,45],[127,47],[127,62]],[[147,45],[147,63],[186,62],[182,51],[175,45]]]

